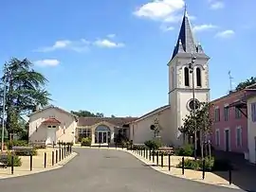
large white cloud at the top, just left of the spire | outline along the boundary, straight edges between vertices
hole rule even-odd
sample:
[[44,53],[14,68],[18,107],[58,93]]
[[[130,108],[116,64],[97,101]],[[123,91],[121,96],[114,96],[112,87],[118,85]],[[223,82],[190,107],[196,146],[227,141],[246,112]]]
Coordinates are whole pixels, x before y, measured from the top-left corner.
[[180,16],[176,13],[184,6],[184,0],[153,0],[142,5],[134,14],[155,21],[178,22]]

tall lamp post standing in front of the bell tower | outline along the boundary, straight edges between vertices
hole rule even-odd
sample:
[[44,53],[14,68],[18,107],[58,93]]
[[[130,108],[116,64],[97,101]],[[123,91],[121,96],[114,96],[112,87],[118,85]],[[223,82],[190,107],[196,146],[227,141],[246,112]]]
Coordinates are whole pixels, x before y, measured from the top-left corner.
[[195,56],[192,56],[192,62],[189,65],[190,73],[192,74],[192,114],[194,119],[194,159],[196,159],[196,151],[197,151],[197,135],[196,135],[196,119],[195,119],[195,96],[194,96],[194,62],[196,60]]

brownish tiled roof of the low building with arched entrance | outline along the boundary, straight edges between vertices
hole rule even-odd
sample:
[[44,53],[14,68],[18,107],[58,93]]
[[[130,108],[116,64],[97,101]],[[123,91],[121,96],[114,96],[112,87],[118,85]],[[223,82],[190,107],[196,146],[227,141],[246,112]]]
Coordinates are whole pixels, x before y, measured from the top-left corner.
[[137,120],[137,117],[79,117],[78,126],[92,126],[101,121],[106,121],[115,126],[123,126],[134,120]]

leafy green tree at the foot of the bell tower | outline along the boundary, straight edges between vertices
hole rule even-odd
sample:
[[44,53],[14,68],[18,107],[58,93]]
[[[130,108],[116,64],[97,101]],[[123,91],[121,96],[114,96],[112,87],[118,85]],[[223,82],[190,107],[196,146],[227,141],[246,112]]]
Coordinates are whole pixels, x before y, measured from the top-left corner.
[[[192,112],[186,115],[186,117],[183,119],[183,126],[179,128],[179,131],[189,139],[192,137],[193,141],[194,131],[200,132],[201,144],[202,142],[206,141],[207,136],[210,134],[210,128],[212,125],[210,107],[210,103],[201,102],[199,108],[195,111],[195,115],[193,115]],[[203,149],[203,145],[201,145],[201,151],[203,151]]]

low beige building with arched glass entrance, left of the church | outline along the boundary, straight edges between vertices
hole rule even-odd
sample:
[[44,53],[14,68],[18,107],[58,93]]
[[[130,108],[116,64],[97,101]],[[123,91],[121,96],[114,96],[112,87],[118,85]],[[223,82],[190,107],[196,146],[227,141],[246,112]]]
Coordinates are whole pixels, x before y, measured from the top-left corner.
[[91,137],[92,145],[114,144],[118,134],[129,138],[129,123],[133,117],[77,117],[53,105],[29,115],[29,142],[45,142],[46,145],[78,142]]

